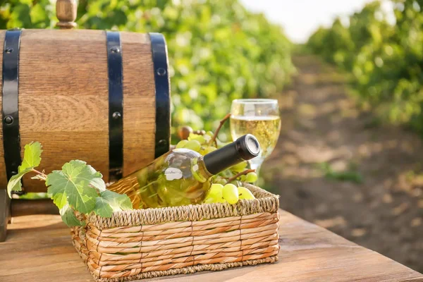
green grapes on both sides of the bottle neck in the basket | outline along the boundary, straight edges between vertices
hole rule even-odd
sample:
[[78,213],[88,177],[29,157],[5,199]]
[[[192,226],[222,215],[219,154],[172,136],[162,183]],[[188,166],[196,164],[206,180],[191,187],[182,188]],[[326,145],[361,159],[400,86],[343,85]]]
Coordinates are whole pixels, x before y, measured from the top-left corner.
[[[188,133],[188,138],[180,140],[176,145],[176,148],[192,149],[195,152],[199,152],[204,156],[213,152],[217,148],[223,147],[228,143],[220,142],[219,140],[213,140],[214,133],[208,131],[207,133],[197,132]],[[181,136],[183,138],[183,136]],[[243,161],[236,166],[222,171],[216,176],[212,177],[212,187],[209,190],[204,203],[223,203],[228,202],[229,204],[236,204],[238,200],[252,200],[255,199],[252,192],[247,188],[243,187],[242,183],[255,183],[257,181],[257,173],[249,172],[242,174],[247,169],[247,161]],[[238,176],[238,174],[242,174]],[[235,179],[233,179],[235,176]],[[233,179],[233,180],[231,180]],[[231,183],[228,183],[231,180]]]

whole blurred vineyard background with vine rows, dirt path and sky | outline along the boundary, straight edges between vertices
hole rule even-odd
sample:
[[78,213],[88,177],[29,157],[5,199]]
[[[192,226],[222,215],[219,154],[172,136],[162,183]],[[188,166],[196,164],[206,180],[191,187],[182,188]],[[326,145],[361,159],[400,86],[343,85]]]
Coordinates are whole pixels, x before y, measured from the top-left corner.
[[[77,22],[164,33],[173,135],[180,125],[216,129],[233,99],[278,99],[282,131],[262,186],[288,212],[422,272],[422,8],[423,0],[80,0]],[[53,0],[0,0],[0,28],[54,27],[54,10]]]

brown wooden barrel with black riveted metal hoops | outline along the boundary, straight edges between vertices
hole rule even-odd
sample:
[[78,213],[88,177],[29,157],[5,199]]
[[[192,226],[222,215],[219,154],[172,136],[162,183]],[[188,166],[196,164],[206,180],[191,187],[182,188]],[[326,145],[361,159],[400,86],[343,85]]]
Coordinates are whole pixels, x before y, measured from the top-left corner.
[[[71,159],[114,180],[168,151],[166,43],[159,34],[103,30],[1,31],[0,189],[23,147],[42,143],[47,173]],[[30,173],[29,173],[30,174]],[[44,183],[23,179],[26,191]]]

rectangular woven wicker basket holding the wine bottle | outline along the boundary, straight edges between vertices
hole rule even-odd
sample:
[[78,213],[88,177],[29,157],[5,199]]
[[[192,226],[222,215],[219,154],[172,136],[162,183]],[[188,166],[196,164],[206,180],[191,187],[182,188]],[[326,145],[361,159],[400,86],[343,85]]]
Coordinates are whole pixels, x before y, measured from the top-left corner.
[[73,245],[96,281],[130,281],[278,260],[278,196],[88,216]]

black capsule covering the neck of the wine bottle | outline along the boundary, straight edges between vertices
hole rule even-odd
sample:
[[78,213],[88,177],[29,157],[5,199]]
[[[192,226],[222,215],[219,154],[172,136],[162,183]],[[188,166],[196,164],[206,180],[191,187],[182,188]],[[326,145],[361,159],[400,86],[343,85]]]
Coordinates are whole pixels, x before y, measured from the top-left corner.
[[217,174],[241,161],[257,157],[259,153],[259,141],[254,135],[247,134],[239,137],[235,142],[206,154],[204,164],[209,173]]

